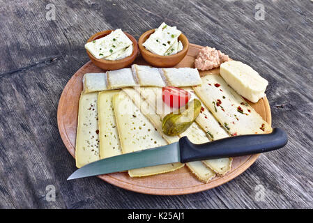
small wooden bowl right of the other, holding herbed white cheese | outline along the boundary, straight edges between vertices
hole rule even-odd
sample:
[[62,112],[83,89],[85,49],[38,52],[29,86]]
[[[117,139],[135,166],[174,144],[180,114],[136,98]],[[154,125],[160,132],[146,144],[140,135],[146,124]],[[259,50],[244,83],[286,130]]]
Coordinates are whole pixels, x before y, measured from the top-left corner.
[[186,56],[188,49],[189,49],[189,41],[188,38],[181,33],[180,36],[178,36],[178,40],[181,40],[181,43],[183,43],[183,50],[181,52],[178,52],[174,55],[169,56],[160,56],[158,54],[153,54],[152,52],[148,51],[142,44],[148,39],[148,37],[154,33],[154,29],[151,29],[149,31],[146,31],[142,36],[140,36],[138,40],[139,50],[142,54],[142,57],[144,57],[144,60],[150,63],[151,65],[155,67],[160,68],[170,68],[175,66],[177,63],[181,62],[183,58]]

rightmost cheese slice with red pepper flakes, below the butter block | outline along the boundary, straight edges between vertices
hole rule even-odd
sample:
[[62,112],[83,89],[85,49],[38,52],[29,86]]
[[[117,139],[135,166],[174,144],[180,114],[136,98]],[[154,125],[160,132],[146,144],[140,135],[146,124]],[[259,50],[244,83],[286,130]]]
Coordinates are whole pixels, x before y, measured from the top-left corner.
[[194,92],[231,135],[269,133],[272,128],[220,75],[201,77]]

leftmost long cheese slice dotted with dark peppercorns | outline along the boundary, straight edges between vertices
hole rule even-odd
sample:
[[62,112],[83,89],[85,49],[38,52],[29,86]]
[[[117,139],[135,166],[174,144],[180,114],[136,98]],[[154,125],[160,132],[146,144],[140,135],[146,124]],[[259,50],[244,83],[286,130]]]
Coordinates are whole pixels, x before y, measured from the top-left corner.
[[99,160],[98,93],[82,93],[79,98],[75,146],[76,167]]

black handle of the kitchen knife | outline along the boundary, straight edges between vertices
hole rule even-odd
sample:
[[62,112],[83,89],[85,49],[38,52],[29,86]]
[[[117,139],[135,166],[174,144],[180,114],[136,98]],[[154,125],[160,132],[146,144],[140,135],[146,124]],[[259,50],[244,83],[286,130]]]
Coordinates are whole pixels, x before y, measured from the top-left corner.
[[181,162],[191,162],[264,153],[284,147],[287,141],[286,132],[274,128],[270,134],[245,134],[205,144],[193,144],[187,137],[182,137],[179,139],[179,147]]

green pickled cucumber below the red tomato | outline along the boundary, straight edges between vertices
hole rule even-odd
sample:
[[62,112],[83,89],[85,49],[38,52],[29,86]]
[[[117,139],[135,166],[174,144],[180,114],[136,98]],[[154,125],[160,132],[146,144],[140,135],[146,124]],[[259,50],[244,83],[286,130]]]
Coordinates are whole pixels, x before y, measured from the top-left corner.
[[162,131],[169,136],[181,134],[187,130],[199,116],[201,102],[197,99],[188,102],[183,109],[167,114],[162,120]]

